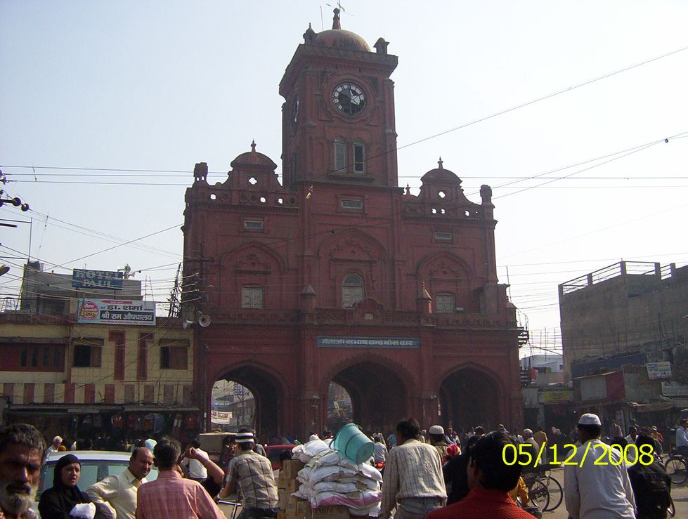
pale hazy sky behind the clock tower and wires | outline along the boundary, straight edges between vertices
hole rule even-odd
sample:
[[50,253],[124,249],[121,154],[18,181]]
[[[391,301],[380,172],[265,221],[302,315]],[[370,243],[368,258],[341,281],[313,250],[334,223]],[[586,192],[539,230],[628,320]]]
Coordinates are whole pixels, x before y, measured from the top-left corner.
[[[493,187],[500,282],[508,267],[533,346],[559,347],[559,283],[688,261],[688,2],[343,5],[342,28],[399,58],[399,184],[417,194],[441,156],[472,201]],[[164,301],[194,164],[223,181],[255,139],[281,173],[278,83],[309,22],[331,28],[332,7],[0,0],[0,169],[32,209],[0,218],[33,218],[0,227],[0,293],[32,234],[47,269],[129,263]]]

